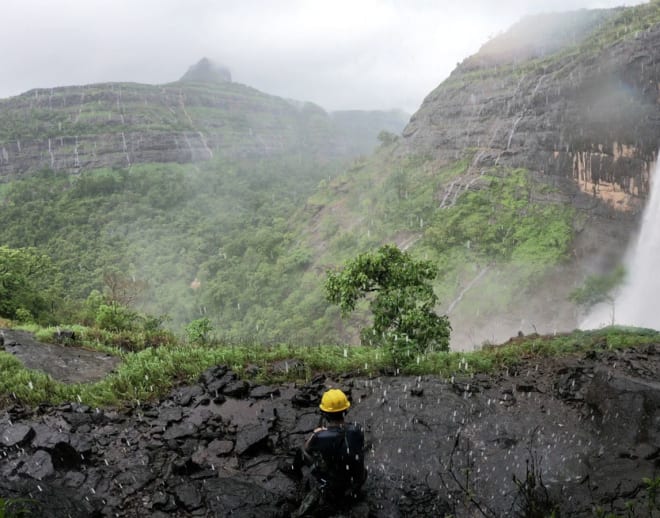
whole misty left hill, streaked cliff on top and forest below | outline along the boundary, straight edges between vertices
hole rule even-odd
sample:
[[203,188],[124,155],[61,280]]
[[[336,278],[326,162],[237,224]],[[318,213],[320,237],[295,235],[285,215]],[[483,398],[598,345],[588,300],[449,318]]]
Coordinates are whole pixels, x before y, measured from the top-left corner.
[[34,90],[0,104],[0,244],[52,261],[45,300],[21,318],[92,323],[103,293],[175,330],[209,318],[219,338],[267,342],[334,336],[324,304],[310,317],[306,297],[290,300],[313,255],[296,214],[407,119],[328,114],[230,82]]

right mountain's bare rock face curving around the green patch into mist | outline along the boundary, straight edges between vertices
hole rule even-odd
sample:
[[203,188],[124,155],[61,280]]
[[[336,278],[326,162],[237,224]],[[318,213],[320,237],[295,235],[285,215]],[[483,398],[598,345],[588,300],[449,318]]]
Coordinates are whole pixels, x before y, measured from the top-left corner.
[[499,166],[498,174],[522,167],[547,186],[541,203],[559,202],[574,215],[566,256],[505,307],[487,298],[483,283],[459,280],[456,300],[481,290],[490,313],[459,304],[450,315],[456,343],[579,325],[571,292],[621,263],[649,194],[660,146],[658,56],[658,2],[531,17],[464,60],[413,115],[402,153],[441,165],[473,157],[445,188],[454,198],[487,188],[481,176]]

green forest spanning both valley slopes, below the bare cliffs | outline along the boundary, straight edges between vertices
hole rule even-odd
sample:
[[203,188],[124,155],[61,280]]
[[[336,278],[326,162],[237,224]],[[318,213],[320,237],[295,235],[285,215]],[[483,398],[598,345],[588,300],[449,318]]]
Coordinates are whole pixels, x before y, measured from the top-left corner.
[[[440,208],[472,153],[438,166],[394,158],[387,144],[339,176],[336,164],[296,156],[12,182],[0,194],[0,242],[38,250],[53,274],[40,280],[49,311],[5,316],[149,329],[146,313],[177,332],[207,318],[215,338],[235,343],[347,343],[367,314],[341,322],[325,272],[384,242],[416,243],[414,257],[440,266],[441,303],[476,265],[514,262],[524,288],[565,257],[572,212],[526,171],[493,169]],[[497,291],[498,305],[510,296]]]

